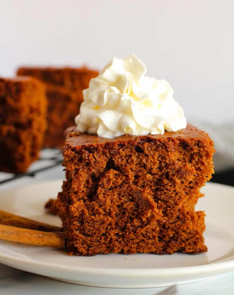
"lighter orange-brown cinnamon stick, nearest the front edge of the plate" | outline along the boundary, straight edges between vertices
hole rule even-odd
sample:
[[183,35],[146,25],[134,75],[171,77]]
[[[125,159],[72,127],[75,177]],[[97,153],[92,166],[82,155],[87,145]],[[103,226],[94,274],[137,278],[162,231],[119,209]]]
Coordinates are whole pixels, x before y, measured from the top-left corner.
[[63,232],[41,232],[0,224],[0,239],[29,245],[38,245],[63,249]]

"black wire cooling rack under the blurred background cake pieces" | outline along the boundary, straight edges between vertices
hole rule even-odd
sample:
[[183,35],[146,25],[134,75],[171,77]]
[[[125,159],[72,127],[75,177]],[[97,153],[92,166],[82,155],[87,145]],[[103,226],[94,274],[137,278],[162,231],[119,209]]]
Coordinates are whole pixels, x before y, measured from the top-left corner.
[[[49,156],[46,155],[46,153],[49,153]],[[61,150],[52,150],[50,149],[49,152],[47,149],[41,150],[41,156],[40,158],[36,161],[37,163],[40,163],[40,161],[42,160],[46,160],[49,163],[43,165],[43,167],[40,168],[34,168],[34,169],[29,169],[28,172],[26,173],[19,173],[19,174],[10,174],[9,173],[9,177],[0,180],[0,185],[9,181],[14,181],[16,179],[19,179],[21,177],[25,177],[25,176],[30,176],[30,177],[34,177],[36,175],[36,173],[41,172],[41,171],[46,171],[48,169],[54,168],[58,165],[61,165],[63,162],[63,157],[62,157],[62,152]],[[51,163],[51,161],[53,163]],[[35,165],[34,165],[35,166]],[[6,173],[8,174],[8,173]]]

